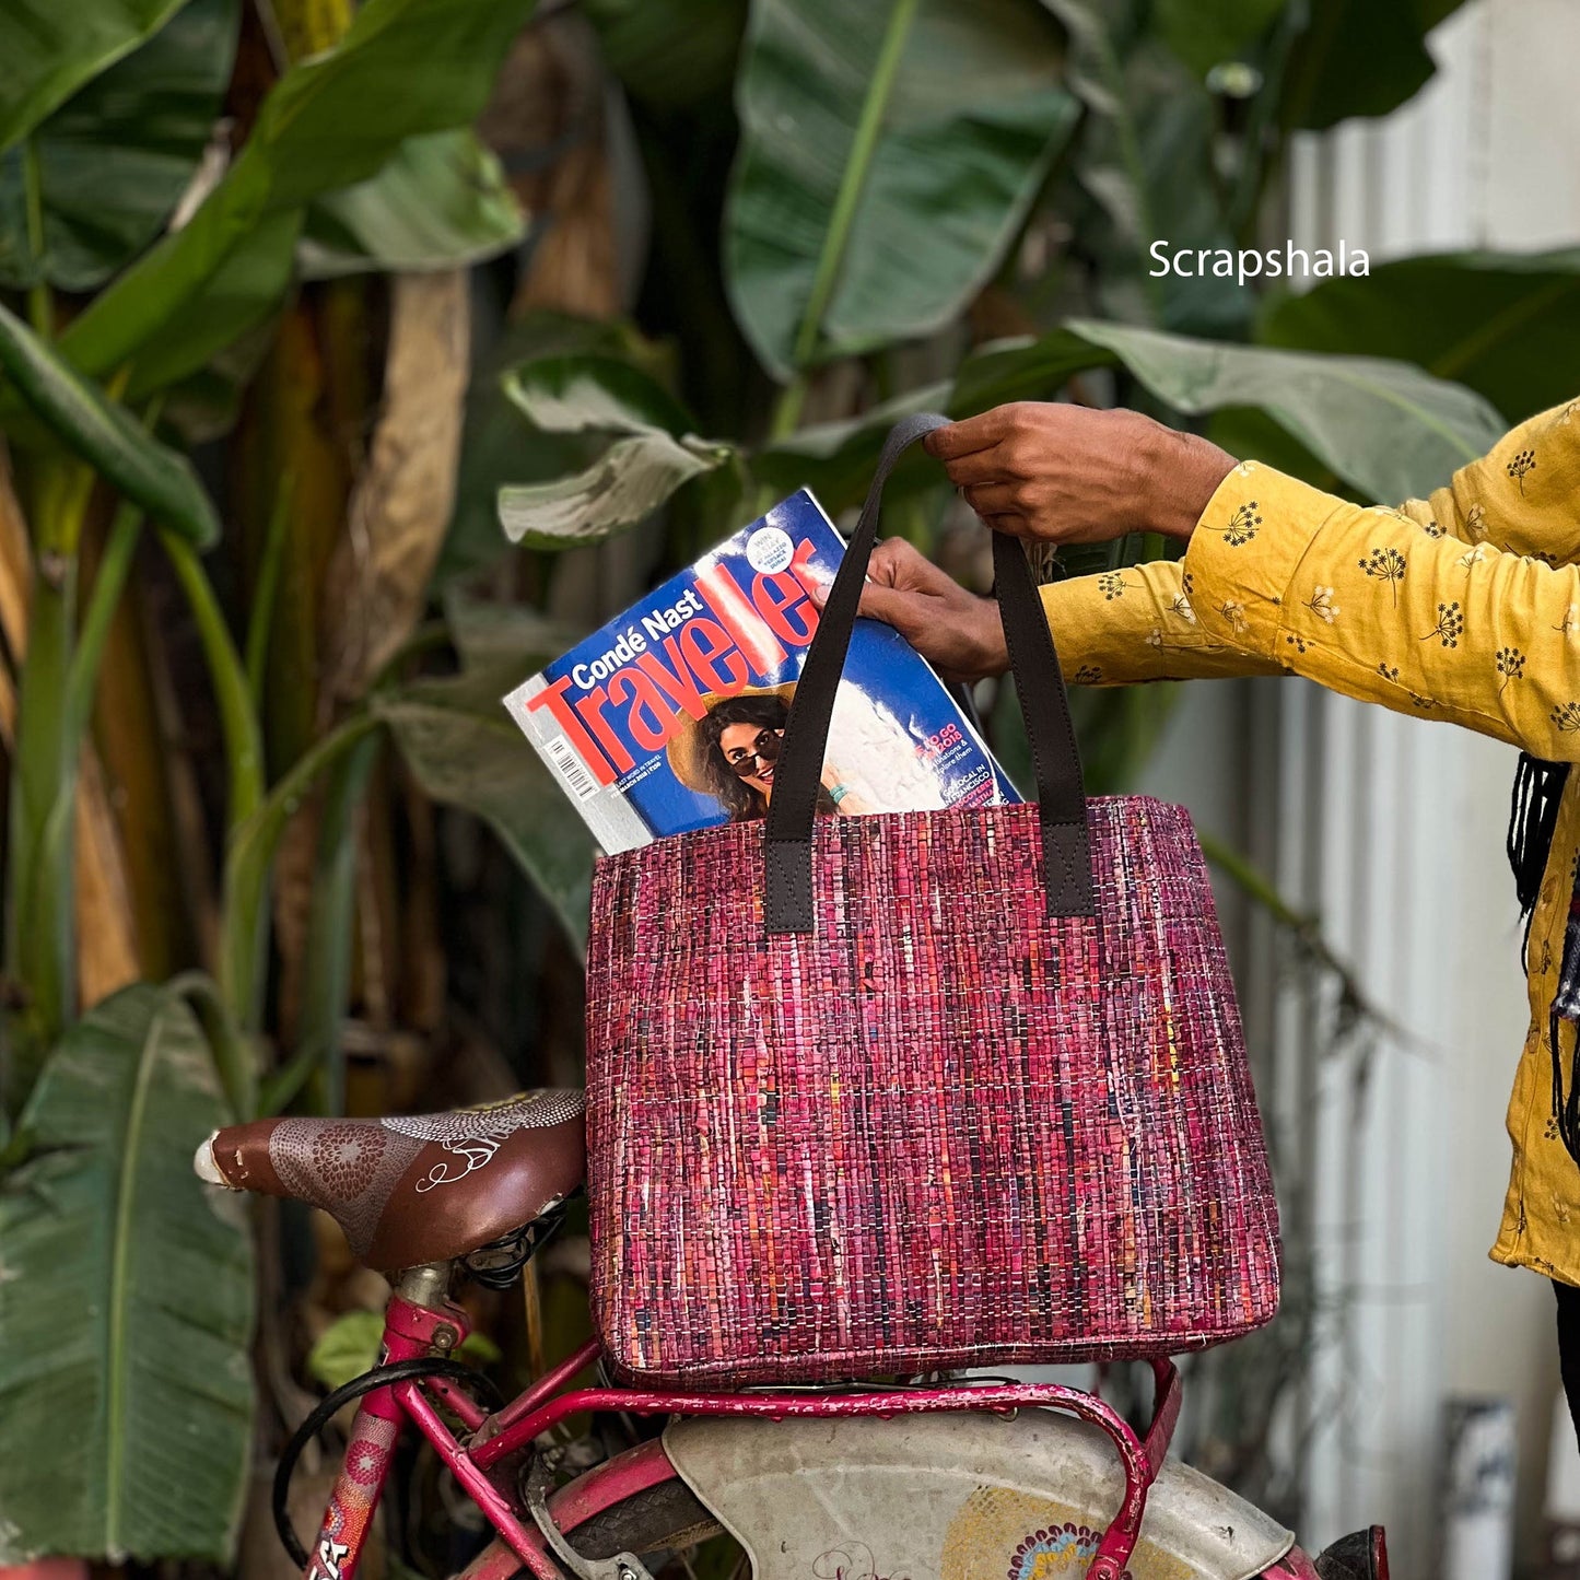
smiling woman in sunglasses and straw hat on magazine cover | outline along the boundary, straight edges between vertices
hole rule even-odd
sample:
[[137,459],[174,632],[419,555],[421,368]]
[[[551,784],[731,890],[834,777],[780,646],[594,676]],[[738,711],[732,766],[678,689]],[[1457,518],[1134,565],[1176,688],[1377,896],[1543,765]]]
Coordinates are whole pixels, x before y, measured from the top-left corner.
[[[732,823],[768,815],[774,771],[784,744],[795,683],[752,687],[735,697],[708,698],[708,711],[670,741],[675,777],[689,790],[713,796]],[[818,817],[853,817],[872,807],[844,781],[833,763],[823,765],[817,793]]]

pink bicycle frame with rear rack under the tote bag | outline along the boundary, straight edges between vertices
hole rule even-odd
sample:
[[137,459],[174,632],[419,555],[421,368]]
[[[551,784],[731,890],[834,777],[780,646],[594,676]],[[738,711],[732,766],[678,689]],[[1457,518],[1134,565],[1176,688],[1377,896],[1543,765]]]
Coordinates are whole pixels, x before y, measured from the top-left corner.
[[[441,1267],[419,1269],[403,1280],[386,1315],[381,1364],[447,1354],[466,1338],[466,1313],[444,1299],[446,1281],[447,1269]],[[1138,1436],[1103,1400],[1049,1382],[848,1394],[569,1387],[599,1354],[599,1345],[589,1341],[496,1413],[485,1411],[461,1387],[439,1378],[392,1382],[367,1394],[357,1409],[340,1477],[308,1552],[307,1580],[352,1580],[356,1575],[397,1439],[408,1424],[433,1446],[498,1531],[498,1540],[472,1563],[466,1580],[507,1580],[521,1567],[534,1580],[566,1580],[544,1533],[529,1515],[523,1517],[515,1479],[532,1441],[569,1416],[618,1409],[634,1416],[755,1416],[782,1420],[792,1416],[891,1417],[1024,1408],[1052,1408],[1078,1416],[1100,1427],[1114,1444],[1125,1473],[1125,1493],[1087,1574],[1089,1580],[1123,1580],[1146,1514],[1147,1490],[1163,1465],[1180,1408],[1179,1373],[1168,1360],[1152,1362],[1157,1382],[1153,1417],[1146,1433]],[[461,1422],[465,1441],[446,1424],[441,1405]],[[548,1510],[561,1531],[570,1531],[675,1474],[662,1443],[653,1439],[559,1488],[550,1496]],[[1294,1552],[1269,1571],[1269,1580],[1316,1580],[1316,1569]]]

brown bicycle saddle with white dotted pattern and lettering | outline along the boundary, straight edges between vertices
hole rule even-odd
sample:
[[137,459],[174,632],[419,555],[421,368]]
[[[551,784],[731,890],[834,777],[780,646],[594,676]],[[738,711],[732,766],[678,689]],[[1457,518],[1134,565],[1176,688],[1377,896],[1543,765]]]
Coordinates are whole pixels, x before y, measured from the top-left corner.
[[580,1092],[398,1119],[256,1119],[198,1149],[199,1179],[322,1207],[370,1267],[442,1262],[498,1240],[586,1179]]

